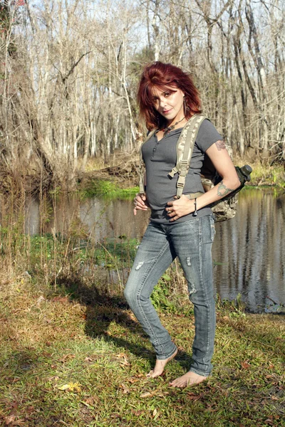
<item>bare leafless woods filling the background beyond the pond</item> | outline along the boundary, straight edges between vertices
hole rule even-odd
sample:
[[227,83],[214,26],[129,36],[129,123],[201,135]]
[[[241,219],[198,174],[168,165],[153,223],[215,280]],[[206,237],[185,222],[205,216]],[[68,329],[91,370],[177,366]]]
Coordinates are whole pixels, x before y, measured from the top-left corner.
[[94,157],[135,152],[152,60],[192,73],[240,157],[284,162],[283,0],[0,1],[0,174],[74,188]]

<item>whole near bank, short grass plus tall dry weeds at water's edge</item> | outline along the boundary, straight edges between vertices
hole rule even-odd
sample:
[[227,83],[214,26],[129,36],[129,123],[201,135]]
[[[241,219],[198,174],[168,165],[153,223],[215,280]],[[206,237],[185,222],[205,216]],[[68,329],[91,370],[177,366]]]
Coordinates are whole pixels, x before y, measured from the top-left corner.
[[152,302],[179,353],[148,379],[155,354],[123,299],[138,241],[91,243],[76,223],[25,236],[13,218],[0,232],[0,426],[285,427],[284,316],[218,300],[212,376],[172,389],[195,332],[176,265]]

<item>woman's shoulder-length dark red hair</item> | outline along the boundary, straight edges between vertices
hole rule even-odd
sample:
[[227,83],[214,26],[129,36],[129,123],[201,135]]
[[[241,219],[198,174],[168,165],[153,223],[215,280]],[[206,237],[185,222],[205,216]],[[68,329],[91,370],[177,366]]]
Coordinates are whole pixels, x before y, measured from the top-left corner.
[[172,64],[160,61],[145,66],[138,87],[138,105],[140,115],[144,118],[148,130],[162,129],[166,125],[165,117],[162,117],[153,105],[152,91],[157,88],[166,90],[170,87],[178,88],[185,94],[185,117],[190,119],[201,110],[199,92],[189,74]]

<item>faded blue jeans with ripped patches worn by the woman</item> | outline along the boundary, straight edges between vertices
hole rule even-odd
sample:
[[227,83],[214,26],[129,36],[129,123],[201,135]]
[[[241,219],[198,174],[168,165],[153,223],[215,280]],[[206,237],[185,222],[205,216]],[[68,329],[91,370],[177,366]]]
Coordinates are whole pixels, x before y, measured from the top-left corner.
[[190,300],[194,304],[195,339],[190,371],[203,376],[208,376],[212,371],[214,352],[213,240],[212,216],[167,225],[150,222],[125,286],[125,298],[150,337],[157,359],[167,359],[177,347],[162,326],[150,295],[172,261],[179,258],[187,279]]

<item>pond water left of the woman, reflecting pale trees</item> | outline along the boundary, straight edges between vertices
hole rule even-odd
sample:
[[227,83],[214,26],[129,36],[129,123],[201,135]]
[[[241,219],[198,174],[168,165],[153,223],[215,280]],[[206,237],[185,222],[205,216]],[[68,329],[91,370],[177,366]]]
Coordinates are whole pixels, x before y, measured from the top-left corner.
[[[51,201],[49,202],[51,203]],[[45,224],[40,221],[41,206],[38,200],[31,199],[26,204],[26,233],[36,234],[42,230],[47,233],[67,233],[76,223],[82,234],[88,234],[94,242],[106,237],[125,236],[140,238],[147,227],[149,214],[133,216],[133,201],[87,199],[81,201],[77,195],[63,196],[53,202],[45,210],[50,211],[50,217]],[[141,213],[140,213],[141,214]]]

